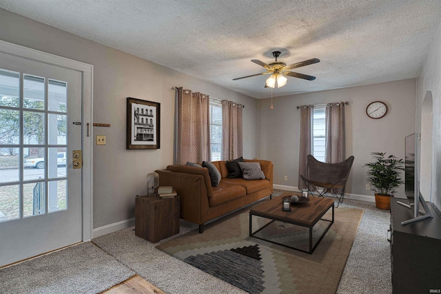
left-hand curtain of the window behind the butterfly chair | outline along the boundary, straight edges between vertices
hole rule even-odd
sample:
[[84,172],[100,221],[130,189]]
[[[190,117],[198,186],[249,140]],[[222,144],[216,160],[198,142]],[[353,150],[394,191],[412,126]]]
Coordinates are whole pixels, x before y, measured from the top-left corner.
[[312,154],[312,105],[300,107],[300,152],[298,157],[298,189],[306,188],[300,175],[308,178],[308,165],[306,157]]

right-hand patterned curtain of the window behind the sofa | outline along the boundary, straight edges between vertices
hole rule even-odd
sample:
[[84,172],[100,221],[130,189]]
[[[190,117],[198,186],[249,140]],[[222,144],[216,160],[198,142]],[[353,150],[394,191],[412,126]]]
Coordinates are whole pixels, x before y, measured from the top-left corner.
[[222,159],[232,160],[243,156],[243,105],[222,101]]

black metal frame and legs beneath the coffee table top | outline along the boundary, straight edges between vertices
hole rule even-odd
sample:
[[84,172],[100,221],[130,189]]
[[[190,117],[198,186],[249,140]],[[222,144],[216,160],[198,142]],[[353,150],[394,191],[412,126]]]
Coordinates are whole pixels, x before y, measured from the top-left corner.
[[[324,216],[325,213],[327,213],[331,207],[332,207],[332,220],[322,219],[322,216]],[[295,220],[289,220],[288,221],[286,218],[284,218],[284,219],[283,218],[278,218],[277,216],[273,216],[273,217],[270,218],[269,216],[264,216],[263,214],[258,213],[258,211],[253,211],[253,212],[249,211],[249,236],[250,237],[254,237],[254,238],[258,238],[260,240],[264,240],[264,241],[267,241],[267,242],[271,242],[271,243],[274,243],[274,244],[278,244],[278,245],[281,245],[281,246],[285,246],[285,247],[288,247],[288,248],[291,248],[291,249],[296,249],[298,251],[302,251],[302,252],[306,252],[306,253],[312,254],[314,252],[314,250],[316,250],[318,244],[323,239],[323,237],[325,237],[325,235],[326,235],[327,231],[329,230],[329,228],[331,227],[331,225],[334,224],[334,204],[332,204],[331,207],[329,207],[328,209],[323,211],[320,214],[320,218],[316,222],[314,222],[314,224],[312,224],[311,226],[307,226],[305,224],[300,224],[300,223],[296,222]],[[265,224],[265,226],[261,227],[260,229],[258,229],[254,233],[252,233],[252,216],[259,216],[260,218],[267,218],[267,219],[271,220],[271,222],[268,222],[267,224]],[[263,229],[265,229],[265,227],[269,226],[269,224],[275,222],[276,220],[279,221],[279,222],[287,222],[289,224],[295,224],[296,226],[309,228],[309,251],[298,249],[298,248],[296,248],[294,246],[289,246],[287,244],[282,244],[282,243],[274,242],[274,241],[271,241],[271,240],[268,240],[268,239],[265,239],[265,238],[260,238],[260,237],[256,236],[256,233],[258,233],[259,231],[262,231]],[[314,228],[314,226],[317,224],[317,222],[319,220],[325,220],[326,222],[329,222],[329,226],[325,229],[325,231],[320,236],[320,239],[318,239],[318,241],[316,242],[316,244],[313,247],[312,246],[312,229]]]

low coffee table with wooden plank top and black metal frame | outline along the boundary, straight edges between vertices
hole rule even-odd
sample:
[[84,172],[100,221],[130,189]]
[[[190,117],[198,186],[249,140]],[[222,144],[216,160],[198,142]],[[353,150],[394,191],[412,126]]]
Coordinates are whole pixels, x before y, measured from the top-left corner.
[[[325,237],[327,231],[331,227],[331,225],[334,223],[334,200],[329,198],[318,198],[309,196],[309,202],[303,203],[303,204],[291,204],[291,211],[282,211],[282,202],[283,198],[291,195],[297,195],[301,197],[301,193],[298,192],[289,192],[289,193],[283,193],[282,195],[273,198],[263,204],[260,204],[252,209],[249,210],[249,236],[258,238],[261,240],[265,240],[274,244],[279,244],[282,246],[286,246],[292,249],[296,249],[299,251],[303,251],[309,254],[312,254],[314,250],[316,250],[316,247],[320,243],[323,237]],[[325,220],[322,219],[322,216],[329,211],[332,207],[332,219],[331,220]],[[271,220],[267,224],[265,224],[263,227],[260,227],[256,231],[253,232],[252,230],[252,217],[253,216],[259,216],[261,218],[267,218]],[[329,225],[325,228],[325,231],[323,231],[322,235],[320,235],[320,238],[314,244],[313,246],[313,228],[318,223],[318,221],[325,221],[329,222]],[[296,248],[295,244],[283,244],[281,242],[276,242],[274,240],[269,240],[269,238],[262,238],[256,235],[258,232],[267,229],[269,224],[273,222],[285,222],[288,224],[294,224],[296,226],[300,227],[306,227],[309,229],[309,250],[302,250],[300,248]],[[291,246],[292,245],[292,246]]]

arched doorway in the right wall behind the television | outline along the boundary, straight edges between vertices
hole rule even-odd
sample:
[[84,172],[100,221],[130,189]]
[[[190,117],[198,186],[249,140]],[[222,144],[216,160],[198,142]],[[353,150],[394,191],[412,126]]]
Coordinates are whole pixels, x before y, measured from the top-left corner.
[[432,183],[432,144],[433,144],[433,99],[427,91],[421,109],[421,155],[420,191],[424,200],[431,201]]

